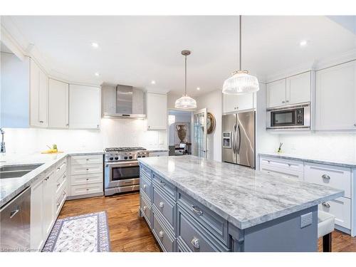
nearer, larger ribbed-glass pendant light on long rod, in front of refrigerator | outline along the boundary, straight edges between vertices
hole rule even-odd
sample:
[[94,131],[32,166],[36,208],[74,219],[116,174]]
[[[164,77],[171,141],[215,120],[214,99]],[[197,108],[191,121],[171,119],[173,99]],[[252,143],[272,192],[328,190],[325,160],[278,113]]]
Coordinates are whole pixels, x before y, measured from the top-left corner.
[[258,87],[258,80],[255,76],[249,75],[247,70],[242,70],[241,68],[241,21],[242,16],[240,15],[240,69],[234,71],[229,78],[224,81],[222,93],[229,95],[243,95],[246,93],[257,92],[260,88]]

